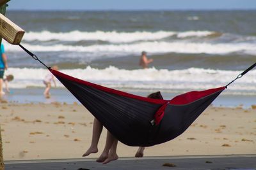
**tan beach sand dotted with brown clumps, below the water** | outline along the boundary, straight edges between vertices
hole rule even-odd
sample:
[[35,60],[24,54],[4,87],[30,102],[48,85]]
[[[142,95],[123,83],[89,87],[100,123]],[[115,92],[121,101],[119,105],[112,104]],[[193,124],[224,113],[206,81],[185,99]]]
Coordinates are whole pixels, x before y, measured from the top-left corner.
[[[0,103],[4,160],[81,158],[90,146],[93,116],[81,104]],[[106,129],[99,142],[104,147]],[[134,157],[138,147],[118,144],[119,157]],[[256,109],[210,106],[189,129],[145,156],[256,153]]]

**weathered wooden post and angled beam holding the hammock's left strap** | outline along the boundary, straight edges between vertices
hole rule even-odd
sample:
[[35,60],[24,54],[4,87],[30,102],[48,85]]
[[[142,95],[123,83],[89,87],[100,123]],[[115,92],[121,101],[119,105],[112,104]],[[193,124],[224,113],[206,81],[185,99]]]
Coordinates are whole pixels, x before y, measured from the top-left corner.
[[[13,45],[19,45],[25,31],[4,16],[6,12],[6,6],[8,6],[6,3],[8,1],[10,0],[0,0],[0,45],[2,43],[2,38],[8,41],[8,43],[11,43]],[[0,127],[0,170],[4,170],[1,127]]]

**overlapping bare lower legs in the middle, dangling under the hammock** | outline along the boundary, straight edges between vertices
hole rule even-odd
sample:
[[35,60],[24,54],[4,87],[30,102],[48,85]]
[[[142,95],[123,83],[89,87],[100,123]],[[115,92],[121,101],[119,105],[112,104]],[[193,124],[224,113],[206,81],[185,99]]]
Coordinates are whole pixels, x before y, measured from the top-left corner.
[[[113,156],[116,155],[117,143],[118,143],[117,139],[108,131],[106,145],[105,145],[104,150],[101,153],[100,157],[96,161],[97,162],[105,162],[108,159],[108,162],[109,162],[109,161],[113,160]],[[117,155],[116,155],[116,157],[117,157]],[[118,159],[118,157],[116,159]]]

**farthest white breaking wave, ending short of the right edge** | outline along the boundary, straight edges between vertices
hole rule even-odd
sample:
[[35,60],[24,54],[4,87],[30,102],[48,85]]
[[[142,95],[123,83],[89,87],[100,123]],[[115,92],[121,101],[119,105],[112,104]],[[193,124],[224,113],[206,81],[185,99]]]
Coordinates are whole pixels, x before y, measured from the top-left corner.
[[116,32],[116,31],[95,31],[95,32],[28,32],[24,35],[26,41],[108,41],[111,43],[131,43],[134,41],[154,41],[157,39],[168,38],[170,36],[177,36],[177,38],[186,37],[202,37],[216,34],[212,31],[135,31],[135,32]]

